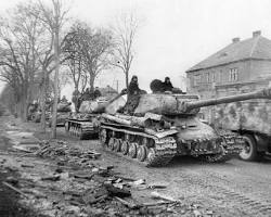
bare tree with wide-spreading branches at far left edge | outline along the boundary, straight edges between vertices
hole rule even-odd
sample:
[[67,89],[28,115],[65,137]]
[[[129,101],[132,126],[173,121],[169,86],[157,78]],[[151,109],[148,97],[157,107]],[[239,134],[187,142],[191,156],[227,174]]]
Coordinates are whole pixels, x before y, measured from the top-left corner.
[[31,87],[39,64],[35,52],[42,26],[31,16],[30,4],[18,4],[13,16],[1,20],[0,27],[0,77],[14,90],[16,111],[26,120],[27,106],[33,99]]

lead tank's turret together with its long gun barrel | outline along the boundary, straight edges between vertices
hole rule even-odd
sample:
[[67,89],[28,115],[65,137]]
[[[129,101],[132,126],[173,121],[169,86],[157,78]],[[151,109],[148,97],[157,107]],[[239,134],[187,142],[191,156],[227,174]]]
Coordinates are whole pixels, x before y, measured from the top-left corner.
[[198,100],[197,95],[185,94],[144,94],[141,97],[134,114],[143,115],[147,112],[163,115],[196,114],[199,112],[199,108],[204,106],[250,99],[271,99],[271,89],[210,100]]

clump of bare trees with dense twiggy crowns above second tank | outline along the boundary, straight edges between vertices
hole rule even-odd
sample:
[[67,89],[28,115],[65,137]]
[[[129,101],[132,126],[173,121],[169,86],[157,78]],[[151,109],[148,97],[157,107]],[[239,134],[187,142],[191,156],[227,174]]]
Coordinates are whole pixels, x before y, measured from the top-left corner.
[[67,34],[64,53],[69,58],[66,63],[75,84],[75,92],[87,85],[94,89],[94,80],[99,73],[109,67],[109,53],[113,49],[112,34],[106,29],[94,29],[86,23],[76,22]]

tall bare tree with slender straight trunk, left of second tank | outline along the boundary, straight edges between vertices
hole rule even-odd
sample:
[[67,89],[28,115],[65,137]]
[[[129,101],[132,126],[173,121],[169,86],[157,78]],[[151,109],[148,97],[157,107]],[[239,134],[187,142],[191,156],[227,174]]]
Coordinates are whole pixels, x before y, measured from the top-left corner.
[[51,7],[46,5],[41,1],[38,3],[38,8],[41,11],[39,17],[49,27],[53,36],[53,51],[54,51],[54,103],[52,115],[52,138],[56,138],[56,115],[57,115],[57,100],[59,100],[59,72],[60,72],[60,53],[61,53],[61,40],[60,35],[62,27],[66,21],[67,10],[64,10],[63,2],[61,0],[51,0]]

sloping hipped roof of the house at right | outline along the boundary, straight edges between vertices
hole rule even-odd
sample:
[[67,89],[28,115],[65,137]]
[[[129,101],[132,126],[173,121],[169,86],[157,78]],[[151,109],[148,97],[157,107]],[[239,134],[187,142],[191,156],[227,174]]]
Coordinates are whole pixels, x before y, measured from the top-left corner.
[[232,42],[186,72],[209,68],[248,59],[271,60],[271,40],[258,35],[243,41]]

